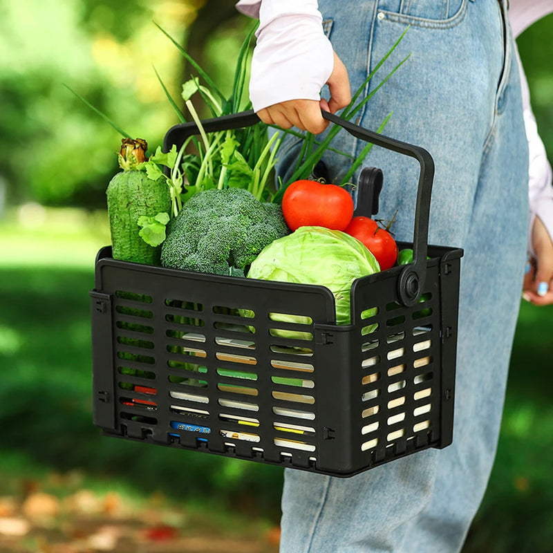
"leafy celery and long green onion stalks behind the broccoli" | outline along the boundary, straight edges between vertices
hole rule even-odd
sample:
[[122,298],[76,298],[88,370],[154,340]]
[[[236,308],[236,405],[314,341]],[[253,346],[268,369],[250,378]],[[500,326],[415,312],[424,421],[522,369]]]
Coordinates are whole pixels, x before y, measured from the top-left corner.
[[[350,170],[346,174],[342,184],[349,180],[353,174],[355,174],[355,171],[362,165],[372,145],[367,144],[357,158],[332,148],[331,142],[333,138],[335,138],[335,135],[341,130],[341,127],[337,125],[332,126],[324,138],[319,140],[316,140],[315,136],[311,133],[299,133],[292,129],[278,129],[275,133],[272,133],[270,137],[268,125],[263,122],[259,122],[244,129],[206,133],[205,129],[203,129],[200,116],[194,104],[191,102],[191,98],[194,97],[194,95],[200,95],[207,109],[209,109],[215,117],[251,109],[251,102],[247,98],[247,73],[252,57],[252,41],[257,24],[248,32],[241,46],[236,60],[232,91],[228,97],[223,94],[221,89],[216,86],[214,79],[192,59],[176,39],[171,37],[171,35],[158,24],[156,24],[156,26],[174,43],[182,56],[198,73],[197,76],[191,75],[191,78],[182,84],[182,100],[185,101],[185,106],[191,120],[194,120],[198,126],[199,136],[187,138],[178,151],[176,147],[173,146],[171,151],[163,153],[161,148],[158,147],[153,156],[138,167],[146,171],[148,178],[151,180],[158,180],[160,177],[164,177],[167,180],[167,184],[171,191],[170,217],[174,217],[178,214],[183,201],[189,200],[199,191],[212,188],[244,188],[250,191],[258,200],[264,202],[279,202],[286,187],[294,182],[294,180],[309,178],[313,167],[321,160],[327,150],[339,153],[350,160]],[[395,71],[397,71],[397,69],[409,58],[409,56],[407,56],[402,62],[397,64],[397,66],[382,79],[382,82],[379,82],[379,84],[373,88],[371,93],[364,97],[362,96],[368,82],[373,79],[377,70],[384,64],[386,59],[391,56],[398,44],[400,44],[406,30],[399,39],[397,39],[395,44],[393,44],[388,53],[386,53],[375,66],[371,74],[368,75],[357,91],[355,91],[350,104],[341,112],[342,118],[346,120],[352,119],[379,88],[381,88]],[[180,122],[185,122],[187,120],[185,113],[180,110],[175,100],[169,94],[167,87],[162,82],[155,67],[154,71],[156,72],[160,85],[165,91],[169,103],[176,112],[178,120]],[[69,88],[69,90],[71,90],[71,88]],[[77,97],[104,118],[104,120],[109,122],[114,129],[128,137],[128,135],[106,115],[95,109],[94,106],[84,100],[84,98],[75,91],[71,90],[71,92],[77,95]],[[359,98],[362,99],[359,100]],[[384,128],[389,118],[390,115],[384,120],[379,131]],[[279,179],[280,186],[275,190],[272,185],[272,183],[274,183],[274,166],[277,163],[277,156],[283,134],[301,137],[303,138],[303,143],[294,171],[292,171],[291,176],[286,182],[281,182]],[[163,167],[169,169],[169,176],[167,176],[167,171],[164,171]],[[158,224],[159,223],[158,221]],[[147,234],[147,232],[149,231],[144,230],[144,234]]]

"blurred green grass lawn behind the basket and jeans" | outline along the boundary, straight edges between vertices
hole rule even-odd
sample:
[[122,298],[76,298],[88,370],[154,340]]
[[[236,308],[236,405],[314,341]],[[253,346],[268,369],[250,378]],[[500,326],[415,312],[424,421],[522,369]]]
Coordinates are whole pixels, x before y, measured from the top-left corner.
[[[106,243],[102,213],[0,221],[0,493],[16,471],[79,469],[139,494],[247,505],[278,521],[281,469],[104,438],[93,427],[88,290]],[[496,465],[463,553],[551,551],[552,330],[553,306],[523,303]]]

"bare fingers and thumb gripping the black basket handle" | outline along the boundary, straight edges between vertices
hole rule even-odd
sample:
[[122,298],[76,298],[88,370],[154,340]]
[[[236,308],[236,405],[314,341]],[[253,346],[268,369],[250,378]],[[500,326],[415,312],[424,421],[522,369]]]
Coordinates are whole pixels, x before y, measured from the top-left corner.
[[351,102],[348,71],[341,59],[334,53],[334,68],[328,77],[330,101],[326,100],[288,100],[273,104],[257,112],[261,121],[275,124],[281,129],[297,126],[302,131],[319,134],[326,129],[328,121],[321,115],[321,109],[336,113]]

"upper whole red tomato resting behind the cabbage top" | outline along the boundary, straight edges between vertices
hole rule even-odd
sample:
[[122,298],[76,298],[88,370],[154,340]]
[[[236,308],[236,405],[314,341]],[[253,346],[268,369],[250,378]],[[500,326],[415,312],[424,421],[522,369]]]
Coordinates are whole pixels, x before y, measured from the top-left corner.
[[282,212],[292,230],[311,226],[344,230],[353,217],[353,199],[337,185],[297,180],[283,194]]

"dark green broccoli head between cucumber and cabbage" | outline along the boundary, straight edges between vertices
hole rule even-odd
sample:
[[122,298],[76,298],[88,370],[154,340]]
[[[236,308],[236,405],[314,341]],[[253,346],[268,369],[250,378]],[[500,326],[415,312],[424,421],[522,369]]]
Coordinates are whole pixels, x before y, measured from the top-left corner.
[[167,224],[161,264],[188,271],[244,276],[266,245],[290,234],[278,204],[245,189],[198,192]]

